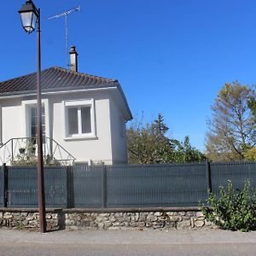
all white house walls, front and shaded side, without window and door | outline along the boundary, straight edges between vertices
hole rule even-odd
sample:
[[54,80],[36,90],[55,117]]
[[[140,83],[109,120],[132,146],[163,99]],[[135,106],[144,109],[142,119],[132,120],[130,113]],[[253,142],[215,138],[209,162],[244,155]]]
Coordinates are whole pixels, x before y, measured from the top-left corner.
[[[35,97],[27,96],[0,99],[2,108],[2,141],[6,143],[13,137],[26,137],[26,117],[22,102]],[[43,96],[48,99],[48,134],[78,162],[104,162],[119,164],[127,162],[125,131],[120,131],[120,118],[124,119],[117,104],[108,91],[90,91],[62,95]],[[94,99],[96,116],[96,137],[65,139],[64,104],[67,100]],[[124,120],[125,122],[125,120]],[[3,151],[3,150],[2,150]],[[0,150],[0,156],[3,154]]]

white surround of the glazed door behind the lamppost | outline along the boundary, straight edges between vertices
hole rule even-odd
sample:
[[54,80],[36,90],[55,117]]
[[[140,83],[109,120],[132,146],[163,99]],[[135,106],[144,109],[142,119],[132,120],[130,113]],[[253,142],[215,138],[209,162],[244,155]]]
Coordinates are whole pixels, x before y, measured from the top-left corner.
[[[30,108],[37,106],[37,100],[22,101],[21,105],[23,108],[25,126],[24,126],[24,137],[30,137]],[[45,122],[45,137],[49,137],[49,100],[42,99],[42,106],[44,106],[44,122]]]

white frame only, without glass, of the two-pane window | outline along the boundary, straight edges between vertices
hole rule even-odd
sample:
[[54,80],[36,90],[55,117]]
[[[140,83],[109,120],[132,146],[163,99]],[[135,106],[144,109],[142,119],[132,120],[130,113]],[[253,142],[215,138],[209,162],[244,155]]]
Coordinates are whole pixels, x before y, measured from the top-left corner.
[[[69,134],[68,132],[68,108],[78,108],[78,122],[79,122],[79,133]],[[90,125],[91,131],[88,133],[82,133],[82,119],[81,119],[81,108],[90,107]],[[89,100],[75,100],[75,101],[63,101],[64,108],[64,119],[65,119],[65,140],[76,140],[76,139],[93,139],[96,138],[96,122],[95,122],[95,101]]]

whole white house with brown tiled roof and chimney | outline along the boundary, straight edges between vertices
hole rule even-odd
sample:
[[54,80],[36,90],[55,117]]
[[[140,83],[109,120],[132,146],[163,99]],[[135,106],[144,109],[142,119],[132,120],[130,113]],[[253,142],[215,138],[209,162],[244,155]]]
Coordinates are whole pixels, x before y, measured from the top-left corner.
[[[41,74],[44,154],[127,163],[125,122],[132,115],[119,81],[79,73],[75,47],[70,56],[71,70],[51,67]],[[36,73],[0,82],[3,162],[19,154],[22,138],[36,137],[36,116]]]

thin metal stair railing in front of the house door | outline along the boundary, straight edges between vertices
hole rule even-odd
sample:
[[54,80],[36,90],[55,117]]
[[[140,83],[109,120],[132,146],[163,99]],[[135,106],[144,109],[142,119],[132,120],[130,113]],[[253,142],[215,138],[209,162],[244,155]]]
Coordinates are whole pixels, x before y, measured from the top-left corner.
[[[15,137],[0,147],[0,164],[9,166],[33,165],[37,162],[36,137]],[[45,165],[71,166],[75,158],[53,138],[43,138]]]

